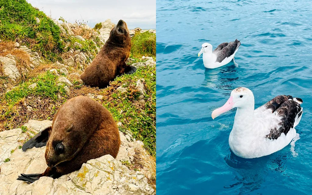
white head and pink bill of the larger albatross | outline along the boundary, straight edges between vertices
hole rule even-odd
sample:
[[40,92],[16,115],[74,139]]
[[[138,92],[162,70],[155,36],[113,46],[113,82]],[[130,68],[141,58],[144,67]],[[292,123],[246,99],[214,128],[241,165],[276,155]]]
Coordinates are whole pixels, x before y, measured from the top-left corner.
[[213,110],[211,117],[212,119],[215,119],[217,116],[231,110],[232,108],[249,108],[254,105],[255,98],[251,90],[246,87],[238,87],[232,90],[230,98],[221,108]]

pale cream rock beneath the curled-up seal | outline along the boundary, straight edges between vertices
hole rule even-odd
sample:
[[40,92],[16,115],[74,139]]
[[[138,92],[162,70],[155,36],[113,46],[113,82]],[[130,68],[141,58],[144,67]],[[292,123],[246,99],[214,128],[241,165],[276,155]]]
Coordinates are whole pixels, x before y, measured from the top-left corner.
[[29,120],[24,125],[28,129],[26,132],[22,129],[0,132],[0,194],[142,195],[155,193],[146,178],[147,168],[133,171],[122,164],[124,161],[131,164],[136,151],[144,150],[141,141],[131,141],[134,139],[129,132],[126,136],[119,132],[121,146],[116,159],[110,155],[91,159],[84,163],[80,170],[58,179],[42,177],[31,184],[16,180],[21,173],[42,173],[46,169],[45,147],[32,148],[23,152],[19,146],[29,137],[28,134],[33,136],[50,125],[49,120]]

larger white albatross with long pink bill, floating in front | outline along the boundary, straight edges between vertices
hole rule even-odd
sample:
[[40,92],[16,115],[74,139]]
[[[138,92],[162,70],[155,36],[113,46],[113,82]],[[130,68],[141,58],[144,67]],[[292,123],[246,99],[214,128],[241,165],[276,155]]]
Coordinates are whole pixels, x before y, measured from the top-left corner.
[[251,90],[238,87],[231,92],[225,105],[212,112],[212,119],[237,108],[229,145],[242,158],[272,154],[287,146],[296,137],[300,122],[302,99],[279,95],[255,109]]

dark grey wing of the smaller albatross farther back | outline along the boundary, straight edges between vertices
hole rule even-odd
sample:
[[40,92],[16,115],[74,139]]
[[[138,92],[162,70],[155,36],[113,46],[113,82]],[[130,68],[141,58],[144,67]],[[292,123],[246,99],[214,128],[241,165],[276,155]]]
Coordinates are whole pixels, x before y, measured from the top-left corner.
[[217,55],[216,62],[222,62],[226,57],[232,56],[240,45],[241,45],[241,42],[238,41],[237,39],[233,42],[220,44],[213,51],[213,53]]

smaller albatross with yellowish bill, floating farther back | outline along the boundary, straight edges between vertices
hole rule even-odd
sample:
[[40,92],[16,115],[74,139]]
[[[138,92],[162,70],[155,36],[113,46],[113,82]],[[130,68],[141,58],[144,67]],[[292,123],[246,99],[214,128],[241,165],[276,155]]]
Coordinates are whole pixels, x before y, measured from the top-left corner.
[[221,43],[212,51],[212,45],[204,43],[198,57],[202,54],[202,61],[206,68],[218,68],[232,61],[240,45],[241,42],[236,39],[233,42]]

